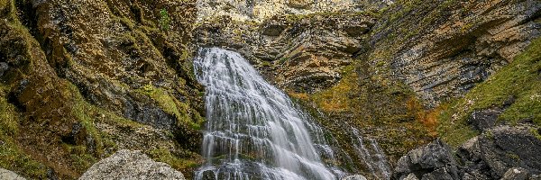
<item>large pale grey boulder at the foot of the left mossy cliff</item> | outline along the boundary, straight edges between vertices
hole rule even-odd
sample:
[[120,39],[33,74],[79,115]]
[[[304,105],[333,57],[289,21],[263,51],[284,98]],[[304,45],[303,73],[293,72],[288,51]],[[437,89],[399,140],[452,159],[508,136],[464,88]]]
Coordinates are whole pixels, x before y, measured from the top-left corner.
[[141,151],[122,149],[91,166],[79,179],[184,180],[184,175],[165,163],[153,161]]

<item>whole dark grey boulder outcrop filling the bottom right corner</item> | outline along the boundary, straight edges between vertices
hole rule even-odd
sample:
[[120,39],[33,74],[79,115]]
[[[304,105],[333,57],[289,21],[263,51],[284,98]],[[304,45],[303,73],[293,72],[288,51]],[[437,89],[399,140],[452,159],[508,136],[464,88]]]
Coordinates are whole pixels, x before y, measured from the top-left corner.
[[401,157],[393,177],[411,179],[413,174],[417,179],[533,178],[541,174],[541,139],[532,130],[536,128],[527,124],[497,126],[468,140],[456,152],[436,140]]

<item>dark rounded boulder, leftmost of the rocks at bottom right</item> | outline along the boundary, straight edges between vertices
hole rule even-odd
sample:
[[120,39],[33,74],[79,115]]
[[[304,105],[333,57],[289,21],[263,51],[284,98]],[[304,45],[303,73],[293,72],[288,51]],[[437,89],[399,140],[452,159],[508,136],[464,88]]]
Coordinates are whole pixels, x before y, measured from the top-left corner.
[[445,142],[436,139],[425,147],[413,149],[408,155],[400,157],[393,177],[399,179],[413,173],[422,179],[457,179],[456,162],[451,152]]

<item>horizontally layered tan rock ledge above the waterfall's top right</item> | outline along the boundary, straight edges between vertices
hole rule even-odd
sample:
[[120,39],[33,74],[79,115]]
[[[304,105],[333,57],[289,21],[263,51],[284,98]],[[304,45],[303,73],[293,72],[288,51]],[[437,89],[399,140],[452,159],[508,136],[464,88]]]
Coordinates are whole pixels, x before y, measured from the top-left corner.
[[312,94],[335,85],[354,54],[367,49],[366,33],[375,20],[356,13],[281,15],[241,25],[222,17],[198,27],[197,43],[235,49],[282,89]]

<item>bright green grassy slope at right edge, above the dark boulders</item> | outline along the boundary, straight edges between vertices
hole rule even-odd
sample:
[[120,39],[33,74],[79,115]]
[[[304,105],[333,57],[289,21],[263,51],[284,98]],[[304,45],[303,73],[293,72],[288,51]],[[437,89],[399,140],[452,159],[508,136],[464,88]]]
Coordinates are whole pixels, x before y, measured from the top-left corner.
[[514,103],[501,113],[499,121],[515,124],[530,119],[541,125],[540,70],[541,38],[533,40],[507,67],[474,87],[463,98],[449,103],[450,108],[438,118],[438,133],[444,139],[456,142],[450,144],[458,145],[466,140],[463,131],[473,134],[465,122],[472,112],[501,107],[510,98]]

